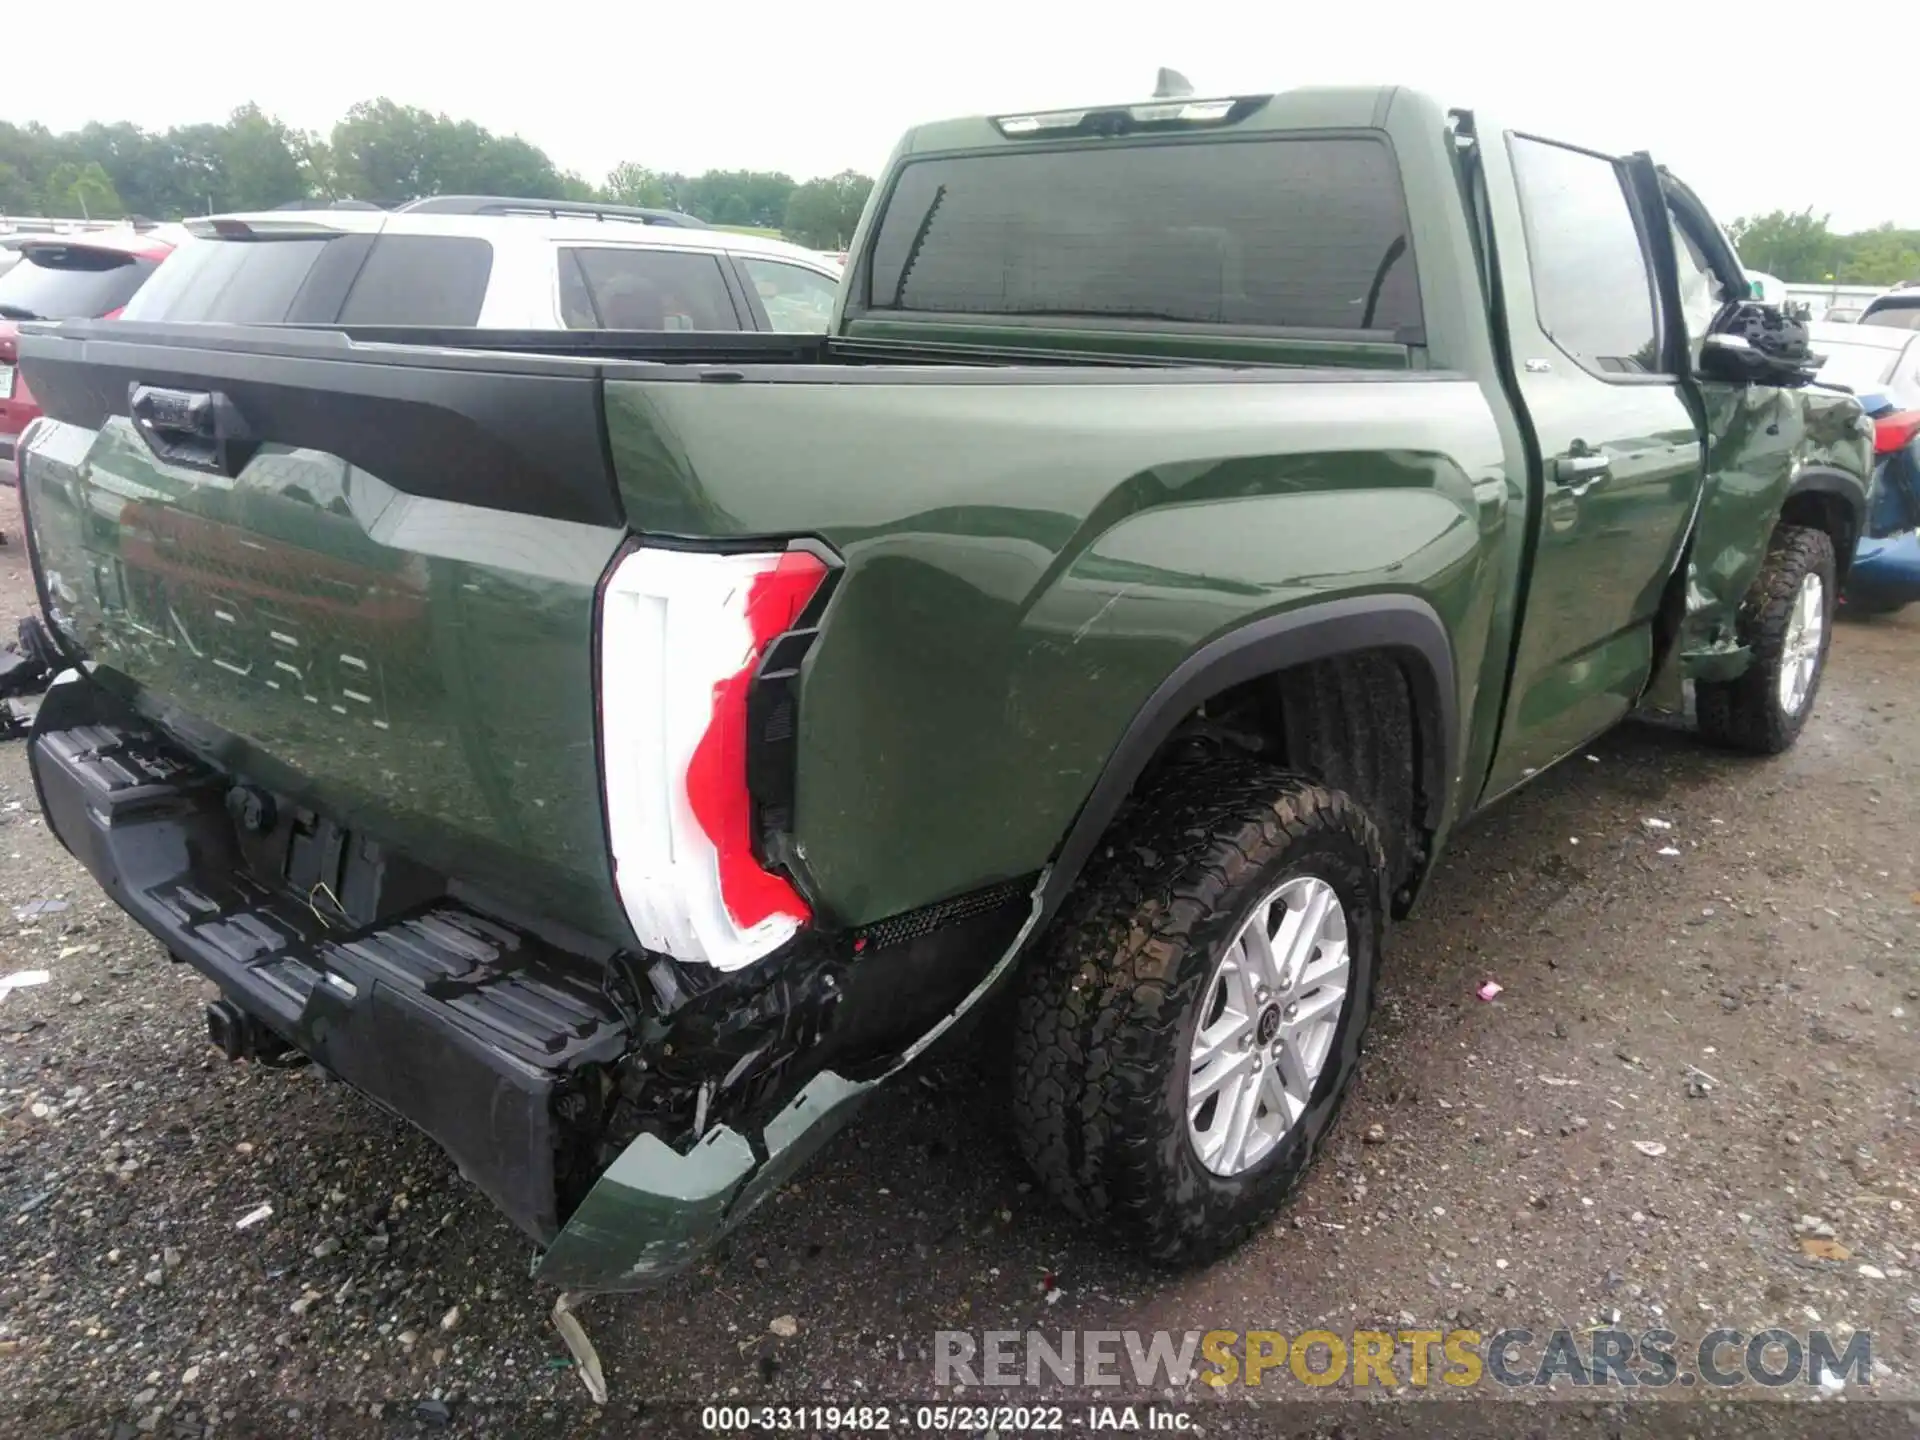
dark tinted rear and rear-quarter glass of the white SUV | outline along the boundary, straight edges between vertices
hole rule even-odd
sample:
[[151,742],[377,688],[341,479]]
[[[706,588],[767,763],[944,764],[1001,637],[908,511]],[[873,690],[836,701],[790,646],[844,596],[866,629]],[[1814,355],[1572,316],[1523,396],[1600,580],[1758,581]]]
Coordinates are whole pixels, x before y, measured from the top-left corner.
[[470,326],[492,269],[472,236],[261,227],[182,242],[125,319]]

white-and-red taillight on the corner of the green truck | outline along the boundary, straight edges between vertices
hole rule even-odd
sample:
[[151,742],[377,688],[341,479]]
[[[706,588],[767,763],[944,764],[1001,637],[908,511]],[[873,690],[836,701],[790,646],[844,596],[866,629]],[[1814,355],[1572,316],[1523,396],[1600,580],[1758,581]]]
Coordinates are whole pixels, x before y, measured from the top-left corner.
[[808,920],[753,854],[747,687],[826,564],[803,551],[636,549],[601,593],[601,774],[614,885],[634,935],[739,970]]

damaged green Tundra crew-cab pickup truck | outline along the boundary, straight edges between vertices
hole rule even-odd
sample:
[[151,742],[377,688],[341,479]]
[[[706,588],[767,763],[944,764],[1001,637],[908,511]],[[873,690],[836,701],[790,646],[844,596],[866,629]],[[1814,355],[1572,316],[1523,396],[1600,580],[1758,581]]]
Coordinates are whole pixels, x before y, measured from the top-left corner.
[[33,774],[576,1290],[962,1020],[1064,1206],[1235,1244],[1452,829],[1688,682],[1791,745],[1870,513],[1680,180],[1409,90],[916,129],[826,336],[342,326],[324,221],[23,340]]

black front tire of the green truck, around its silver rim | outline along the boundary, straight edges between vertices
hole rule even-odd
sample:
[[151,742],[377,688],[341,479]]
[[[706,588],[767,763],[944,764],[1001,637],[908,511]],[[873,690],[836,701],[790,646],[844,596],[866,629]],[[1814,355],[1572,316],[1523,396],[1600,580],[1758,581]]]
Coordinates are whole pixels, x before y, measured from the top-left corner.
[[[1824,530],[1782,524],[1766,547],[1766,561],[1753,578],[1740,605],[1736,630],[1753,655],[1753,662],[1738,680],[1701,682],[1695,685],[1699,733],[1716,745],[1751,755],[1780,755],[1799,739],[1807,716],[1812,714],[1826,674],[1826,653],[1834,637],[1834,609],[1839,597],[1836,586],[1834,541]],[[1780,695],[1780,674],[1791,657],[1786,653],[1793,607],[1809,578],[1818,580],[1822,595],[1820,649],[1812,682],[1799,708],[1789,710]]]

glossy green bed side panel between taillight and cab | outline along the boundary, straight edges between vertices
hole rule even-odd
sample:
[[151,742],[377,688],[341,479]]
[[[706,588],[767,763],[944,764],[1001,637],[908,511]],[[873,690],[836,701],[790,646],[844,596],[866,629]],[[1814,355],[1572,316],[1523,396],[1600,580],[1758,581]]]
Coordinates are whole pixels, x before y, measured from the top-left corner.
[[1043,868],[1154,687],[1319,599],[1407,593],[1498,685],[1509,465],[1463,378],[609,382],[647,532],[843,559],[795,835],[860,924]]

